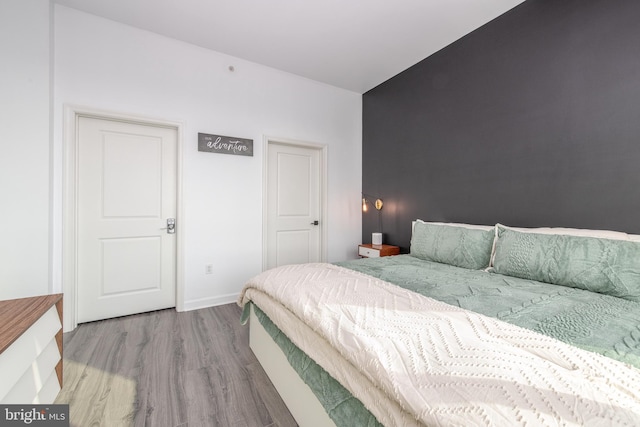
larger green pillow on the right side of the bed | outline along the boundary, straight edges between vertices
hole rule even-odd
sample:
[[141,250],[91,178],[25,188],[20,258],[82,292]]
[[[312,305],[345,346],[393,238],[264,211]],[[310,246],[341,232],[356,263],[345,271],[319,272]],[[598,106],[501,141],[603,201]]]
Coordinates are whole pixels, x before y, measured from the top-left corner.
[[493,271],[640,301],[640,244],[496,226]]

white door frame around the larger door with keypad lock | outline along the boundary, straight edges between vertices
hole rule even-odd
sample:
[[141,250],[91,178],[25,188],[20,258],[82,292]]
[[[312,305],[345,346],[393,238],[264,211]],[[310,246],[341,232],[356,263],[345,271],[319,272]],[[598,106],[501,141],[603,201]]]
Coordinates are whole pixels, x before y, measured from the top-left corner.
[[78,138],[81,117],[125,123],[167,127],[176,130],[176,310],[184,311],[184,215],[182,209],[182,131],[176,121],[105,111],[91,107],[65,105],[62,165],[62,291],[64,293],[64,331],[78,326]]

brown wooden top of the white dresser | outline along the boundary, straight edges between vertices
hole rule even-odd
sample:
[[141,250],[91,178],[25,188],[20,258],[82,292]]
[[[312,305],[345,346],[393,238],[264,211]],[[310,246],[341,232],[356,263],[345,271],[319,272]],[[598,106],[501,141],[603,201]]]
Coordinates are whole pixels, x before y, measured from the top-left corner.
[[62,294],[0,301],[0,353],[60,300]]

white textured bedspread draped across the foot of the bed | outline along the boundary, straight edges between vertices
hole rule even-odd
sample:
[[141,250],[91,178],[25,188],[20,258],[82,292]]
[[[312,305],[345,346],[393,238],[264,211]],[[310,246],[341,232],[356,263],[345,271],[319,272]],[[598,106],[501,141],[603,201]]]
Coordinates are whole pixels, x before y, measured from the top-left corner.
[[384,425],[640,426],[640,371],[330,264],[247,283],[291,341]]

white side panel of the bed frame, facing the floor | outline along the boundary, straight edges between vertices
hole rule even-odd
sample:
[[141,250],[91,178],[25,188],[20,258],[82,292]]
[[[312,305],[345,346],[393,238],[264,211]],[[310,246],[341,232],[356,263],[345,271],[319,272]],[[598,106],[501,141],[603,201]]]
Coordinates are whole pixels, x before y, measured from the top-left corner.
[[335,427],[313,391],[291,367],[284,352],[264,329],[251,305],[249,347],[301,427]]

